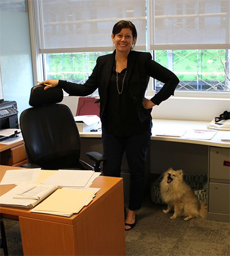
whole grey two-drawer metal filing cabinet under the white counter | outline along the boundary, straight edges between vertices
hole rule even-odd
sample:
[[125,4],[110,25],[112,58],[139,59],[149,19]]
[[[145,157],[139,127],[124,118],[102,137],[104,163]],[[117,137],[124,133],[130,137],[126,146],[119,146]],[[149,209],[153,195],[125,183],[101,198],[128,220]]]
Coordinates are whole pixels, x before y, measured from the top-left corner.
[[230,149],[210,147],[208,219],[230,220]]

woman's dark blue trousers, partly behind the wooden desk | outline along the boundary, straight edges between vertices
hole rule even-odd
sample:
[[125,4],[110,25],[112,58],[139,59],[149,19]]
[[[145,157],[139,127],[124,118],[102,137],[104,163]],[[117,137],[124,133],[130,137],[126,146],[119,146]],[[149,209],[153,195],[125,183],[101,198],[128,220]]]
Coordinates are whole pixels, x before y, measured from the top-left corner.
[[117,137],[102,131],[102,142],[106,161],[103,166],[105,176],[120,177],[124,152],[130,173],[129,209],[141,208],[144,193],[144,167],[150,144],[151,131],[138,135]]

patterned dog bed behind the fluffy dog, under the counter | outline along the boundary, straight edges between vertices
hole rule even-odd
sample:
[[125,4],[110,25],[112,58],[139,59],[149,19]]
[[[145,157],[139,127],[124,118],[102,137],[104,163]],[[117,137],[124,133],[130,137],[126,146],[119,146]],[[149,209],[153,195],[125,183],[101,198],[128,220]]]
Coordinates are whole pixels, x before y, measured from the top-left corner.
[[[160,195],[160,182],[163,175],[160,175],[151,184],[151,198],[156,204],[164,204]],[[183,175],[184,181],[191,186],[199,201],[207,200],[208,193],[208,175]]]

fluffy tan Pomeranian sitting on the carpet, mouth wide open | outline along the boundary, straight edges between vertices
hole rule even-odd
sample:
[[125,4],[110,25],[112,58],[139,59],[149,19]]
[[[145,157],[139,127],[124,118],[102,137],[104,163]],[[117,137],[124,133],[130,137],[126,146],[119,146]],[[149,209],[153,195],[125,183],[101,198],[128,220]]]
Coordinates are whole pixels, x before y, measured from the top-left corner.
[[207,205],[205,201],[199,202],[196,194],[183,180],[182,170],[168,169],[160,182],[162,200],[167,204],[164,213],[174,211],[171,220],[178,216],[185,216],[185,221],[195,217],[206,217]]

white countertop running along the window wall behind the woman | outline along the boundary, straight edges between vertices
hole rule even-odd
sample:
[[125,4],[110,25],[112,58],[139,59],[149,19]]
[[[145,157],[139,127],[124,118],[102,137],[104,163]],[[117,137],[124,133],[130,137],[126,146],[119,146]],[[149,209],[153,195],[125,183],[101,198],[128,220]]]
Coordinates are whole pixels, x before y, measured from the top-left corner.
[[[207,146],[216,147],[230,147],[229,142],[222,142],[221,137],[226,131],[217,131],[212,140],[197,140],[197,139],[185,139],[182,137],[170,137],[170,136],[156,136],[156,131],[159,129],[184,129],[189,131],[191,129],[207,129],[209,122],[206,121],[182,121],[182,120],[152,120],[152,136],[151,140],[163,140],[167,142],[180,142],[180,143],[191,143],[201,144]],[[81,137],[101,137],[101,132],[80,132]]]

